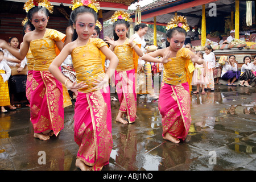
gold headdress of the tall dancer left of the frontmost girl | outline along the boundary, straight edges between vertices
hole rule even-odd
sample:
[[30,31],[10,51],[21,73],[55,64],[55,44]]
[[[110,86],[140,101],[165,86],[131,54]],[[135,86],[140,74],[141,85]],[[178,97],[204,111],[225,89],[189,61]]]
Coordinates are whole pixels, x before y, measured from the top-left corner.
[[28,13],[28,11],[30,9],[32,9],[32,7],[35,6],[43,6],[46,7],[46,9],[49,11],[49,13],[53,13],[53,6],[52,4],[47,1],[47,0],[28,0],[25,5],[24,5],[24,10],[26,10],[26,13]]

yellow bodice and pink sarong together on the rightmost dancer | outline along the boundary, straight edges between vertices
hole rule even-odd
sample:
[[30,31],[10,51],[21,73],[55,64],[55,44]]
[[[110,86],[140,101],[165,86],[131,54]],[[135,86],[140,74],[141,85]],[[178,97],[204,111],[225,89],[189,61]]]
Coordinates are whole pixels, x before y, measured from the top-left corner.
[[187,48],[181,48],[176,57],[164,64],[163,82],[159,94],[159,110],[162,114],[163,136],[169,133],[185,140],[191,125],[190,90],[195,67]]

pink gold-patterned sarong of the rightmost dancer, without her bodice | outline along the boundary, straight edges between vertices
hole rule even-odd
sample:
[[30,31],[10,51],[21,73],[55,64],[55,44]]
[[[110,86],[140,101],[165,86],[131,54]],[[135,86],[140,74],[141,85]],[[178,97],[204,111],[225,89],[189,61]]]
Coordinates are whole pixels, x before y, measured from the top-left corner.
[[178,85],[162,83],[159,110],[162,114],[163,136],[166,133],[184,140],[191,125],[188,82]]

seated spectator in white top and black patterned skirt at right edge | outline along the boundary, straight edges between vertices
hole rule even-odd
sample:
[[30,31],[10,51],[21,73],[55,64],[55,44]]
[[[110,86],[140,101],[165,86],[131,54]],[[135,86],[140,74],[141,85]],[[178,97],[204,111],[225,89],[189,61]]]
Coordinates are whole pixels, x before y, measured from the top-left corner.
[[240,76],[240,86],[247,86],[251,87],[251,84],[255,81],[256,82],[256,76],[253,74],[253,68],[251,67],[251,57],[245,56],[243,57],[243,64],[241,68],[241,76]]

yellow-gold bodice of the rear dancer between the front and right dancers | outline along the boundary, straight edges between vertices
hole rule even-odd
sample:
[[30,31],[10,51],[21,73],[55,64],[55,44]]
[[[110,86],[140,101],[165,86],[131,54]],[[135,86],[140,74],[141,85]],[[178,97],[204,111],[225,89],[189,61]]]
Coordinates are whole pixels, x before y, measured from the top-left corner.
[[116,68],[117,71],[127,71],[134,69],[133,48],[131,48],[128,42],[129,39],[126,39],[125,43],[116,46],[114,49],[114,53],[119,59],[119,63]]

